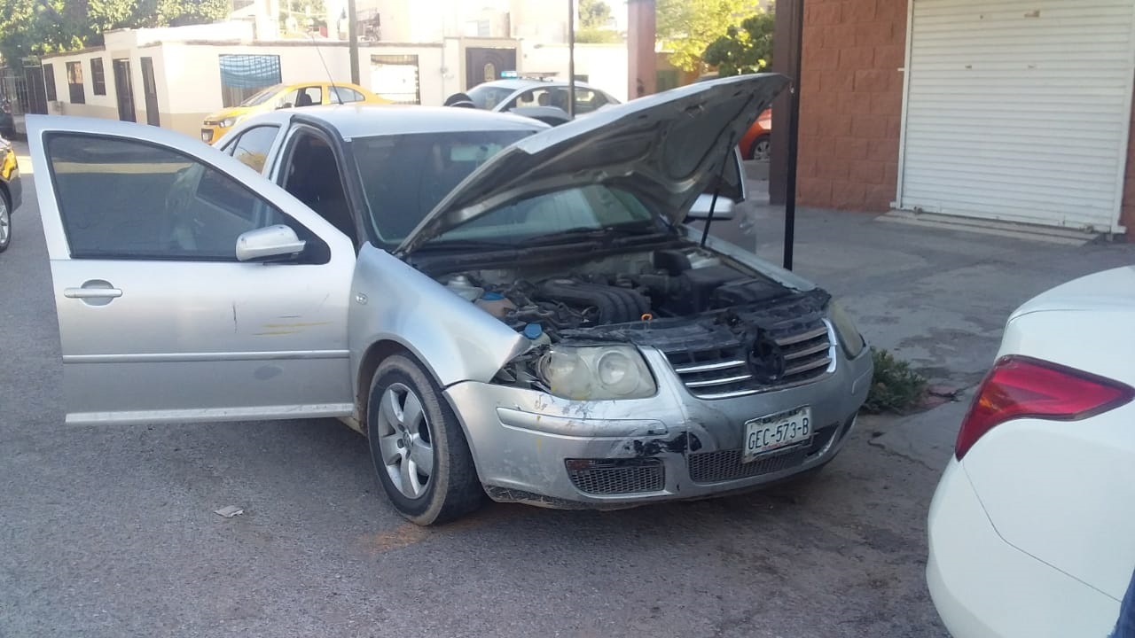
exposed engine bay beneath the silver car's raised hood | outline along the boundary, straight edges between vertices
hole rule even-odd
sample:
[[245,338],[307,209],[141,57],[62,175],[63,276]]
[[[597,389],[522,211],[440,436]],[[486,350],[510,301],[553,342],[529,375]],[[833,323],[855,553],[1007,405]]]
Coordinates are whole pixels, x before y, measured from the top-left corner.
[[793,293],[697,246],[573,266],[451,272],[437,280],[529,338],[546,335],[552,343],[590,328],[728,311]]

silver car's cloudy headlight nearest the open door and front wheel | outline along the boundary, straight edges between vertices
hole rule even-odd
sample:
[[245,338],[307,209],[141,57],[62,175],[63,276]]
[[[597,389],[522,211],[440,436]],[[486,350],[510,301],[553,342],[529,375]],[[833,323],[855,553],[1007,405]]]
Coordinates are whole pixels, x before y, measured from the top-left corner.
[[555,346],[536,371],[552,394],[577,401],[644,398],[657,392],[642,355],[627,345]]

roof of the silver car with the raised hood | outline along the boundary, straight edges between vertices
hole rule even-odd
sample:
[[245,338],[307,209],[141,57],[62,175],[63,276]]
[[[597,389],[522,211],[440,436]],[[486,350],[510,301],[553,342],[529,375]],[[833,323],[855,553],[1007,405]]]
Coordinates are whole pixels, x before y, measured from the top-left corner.
[[548,125],[528,117],[455,107],[352,103],[304,107],[302,110],[274,111],[271,115],[277,117],[257,118],[255,121],[317,120],[338,131],[344,140],[371,135],[548,128]]

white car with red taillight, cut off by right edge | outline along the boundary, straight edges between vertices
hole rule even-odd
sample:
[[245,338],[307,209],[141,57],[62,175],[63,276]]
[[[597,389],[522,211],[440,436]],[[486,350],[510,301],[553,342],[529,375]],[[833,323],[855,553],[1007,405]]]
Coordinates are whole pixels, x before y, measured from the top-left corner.
[[947,629],[1104,637],[1135,569],[1135,267],[1009,318],[930,509]]

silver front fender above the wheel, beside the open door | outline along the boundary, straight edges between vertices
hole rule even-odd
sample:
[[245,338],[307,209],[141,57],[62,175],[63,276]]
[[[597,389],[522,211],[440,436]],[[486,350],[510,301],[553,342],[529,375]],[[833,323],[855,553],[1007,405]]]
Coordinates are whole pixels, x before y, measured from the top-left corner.
[[520,333],[370,243],[359,252],[348,326],[355,379],[368,349],[384,341],[412,352],[442,387],[487,383],[528,347]]

